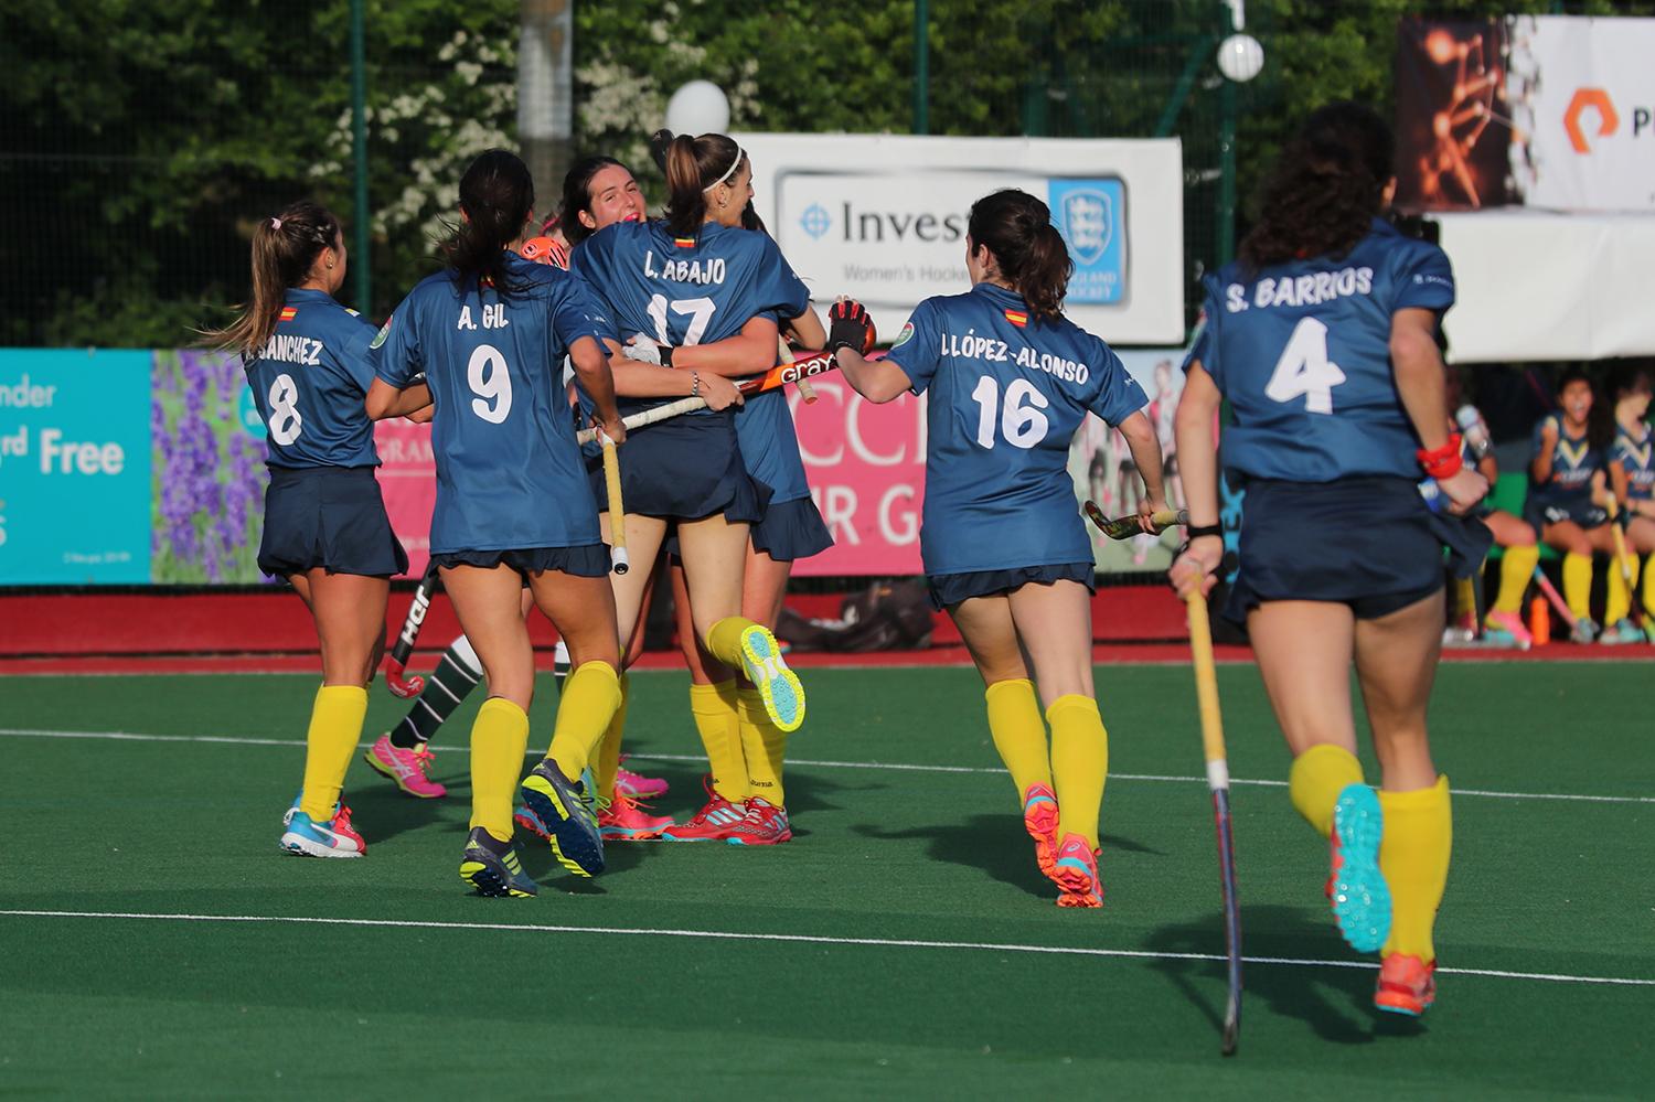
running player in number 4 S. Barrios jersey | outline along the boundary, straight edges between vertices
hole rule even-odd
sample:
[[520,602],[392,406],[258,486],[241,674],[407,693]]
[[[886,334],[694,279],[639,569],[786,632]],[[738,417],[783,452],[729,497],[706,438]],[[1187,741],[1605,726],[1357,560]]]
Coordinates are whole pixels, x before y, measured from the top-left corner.
[[[1180,594],[1223,558],[1213,425],[1246,483],[1241,569],[1226,611],[1246,619],[1294,761],[1293,806],[1332,839],[1329,894],[1346,940],[1384,953],[1380,1009],[1435,998],[1432,925],[1448,880],[1448,778],[1425,708],[1442,647],[1443,558],[1475,569],[1488,529],[1461,513],[1488,482],[1448,430],[1437,326],[1448,258],[1375,215],[1390,202],[1392,137],[1355,104],[1314,111],[1264,187],[1241,260],[1206,276],[1205,328],[1178,404],[1190,544]],[[1446,495],[1438,515],[1420,470]],[[1355,758],[1350,664],[1384,771]]]

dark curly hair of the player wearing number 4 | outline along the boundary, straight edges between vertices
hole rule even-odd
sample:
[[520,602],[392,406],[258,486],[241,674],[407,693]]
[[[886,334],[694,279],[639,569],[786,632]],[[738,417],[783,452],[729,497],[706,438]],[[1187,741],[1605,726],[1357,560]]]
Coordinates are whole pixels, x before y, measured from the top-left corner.
[[1241,242],[1250,271],[1306,256],[1342,256],[1367,237],[1392,177],[1395,139],[1370,108],[1331,103],[1281,151]]

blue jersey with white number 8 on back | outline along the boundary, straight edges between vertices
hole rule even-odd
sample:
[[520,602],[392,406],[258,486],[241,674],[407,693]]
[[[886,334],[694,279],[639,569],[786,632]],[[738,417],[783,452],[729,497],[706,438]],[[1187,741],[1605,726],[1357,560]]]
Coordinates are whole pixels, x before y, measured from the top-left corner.
[[326,291],[291,290],[257,356],[242,356],[270,467],[379,467],[362,405],[374,326]]

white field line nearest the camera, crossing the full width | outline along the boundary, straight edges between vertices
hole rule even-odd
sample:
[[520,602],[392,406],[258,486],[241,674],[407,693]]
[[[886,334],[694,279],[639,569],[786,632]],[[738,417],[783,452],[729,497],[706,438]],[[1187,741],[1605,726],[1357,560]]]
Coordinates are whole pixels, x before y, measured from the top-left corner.
[[[1064,945],[1016,945],[1001,941],[930,941],[917,938],[832,938],[809,933],[750,933],[735,930],[674,930],[674,928],[617,928],[617,927],[566,927],[544,923],[505,922],[422,922],[412,918],[324,918],[314,915],[172,915],[122,910],[0,910],[12,918],[129,918],[152,922],[232,922],[270,925],[318,927],[374,927],[394,930],[493,930],[508,933],[584,933],[594,937],[644,937],[644,938],[705,938],[715,941],[780,941],[791,945],[846,945],[866,948],[915,948],[915,950],[965,950],[980,953],[1041,953],[1053,956],[1114,956],[1125,960],[1188,960],[1223,961],[1221,953],[1158,953],[1150,950],[1109,950]],[[1357,960],[1307,960],[1299,956],[1243,956],[1248,965],[1279,965],[1293,968],[1365,968],[1377,970],[1372,961]],[[1506,971],[1501,968],[1438,968],[1445,976],[1488,976],[1494,980],[1534,980],[1547,983],[1595,983],[1624,988],[1650,988],[1655,980],[1630,976],[1572,976],[1551,971]]]

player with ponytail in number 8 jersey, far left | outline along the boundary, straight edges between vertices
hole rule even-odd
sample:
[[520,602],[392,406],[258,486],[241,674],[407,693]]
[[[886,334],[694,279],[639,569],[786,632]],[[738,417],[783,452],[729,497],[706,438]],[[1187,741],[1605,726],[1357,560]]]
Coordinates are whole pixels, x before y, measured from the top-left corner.
[[[333,299],[344,285],[344,235],[316,204],[295,204],[253,230],[253,301],[210,339],[242,354],[266,429],[270,488],[258,569],[286,577],[321,642],[321,688],[305,738],[305,789],[281,849],[361,857],[339,789],[367,715],[367,682],[386,642],[391,576],[409,559],[391,531],[362,410],[374,328]],[[410,387],[391,414],[430,404]]]

